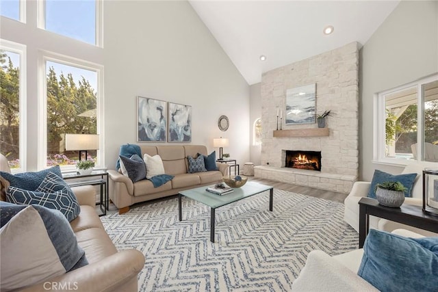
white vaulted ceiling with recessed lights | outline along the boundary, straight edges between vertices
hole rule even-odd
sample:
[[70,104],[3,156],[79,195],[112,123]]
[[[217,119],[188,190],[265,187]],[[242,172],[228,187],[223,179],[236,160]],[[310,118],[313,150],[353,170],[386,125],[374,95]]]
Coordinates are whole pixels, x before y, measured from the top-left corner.
[[[190,0],[250,85],[274,68],[350,42],[362,46],[399,2]],[[329,25],[334,31],[324,35]]]

